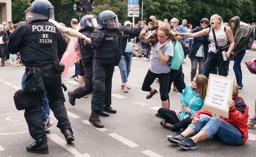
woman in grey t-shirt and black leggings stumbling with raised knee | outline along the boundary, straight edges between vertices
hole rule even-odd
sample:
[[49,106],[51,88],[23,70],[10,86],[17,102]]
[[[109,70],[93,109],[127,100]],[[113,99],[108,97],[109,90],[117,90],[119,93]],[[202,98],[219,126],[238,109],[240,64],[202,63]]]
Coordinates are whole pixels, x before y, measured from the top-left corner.
[[[151,16],[150,19],[159,26],[156,18]],[[167,24],[166,22],[160,22],[163,24]],[[147,32],[147,28],[144,27],[139,35],[139,39],[142,42],[149,42],[151,45],[151,59],[149,62],[149,70],[147,75],[144,78],[144,82],[142,84],[142,90],[149,92],[146,99],[151,99],[155,94],[159,91],[158,89],[153,89],[151,87],[152,83],[156,78],[159,79],[159,86],[160,86],[160,97],[162,100],[162,107],[169,109],[169,101],[168,101],[168,86],[170,80],[170,71],[171,69],[167,65],[169,59],[174,55],[174,47],[173,44],[169,41],[178,42],[176,37],[171,33],[169,26],[161,26],[159,27],[158,31],[155,31],[149,37],[145,37],[144,33]],[[169,42],[169,45],[164,48]],[[156,116],[159,116],[156,114]]]

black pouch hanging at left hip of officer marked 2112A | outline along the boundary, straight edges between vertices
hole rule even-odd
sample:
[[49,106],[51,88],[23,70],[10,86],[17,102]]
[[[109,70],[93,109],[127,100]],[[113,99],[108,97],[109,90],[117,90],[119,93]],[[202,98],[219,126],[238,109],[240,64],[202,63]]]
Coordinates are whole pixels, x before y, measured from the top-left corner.
[[13,99],[17,110],[25,110],[31,106],[29,93],[25,89],[18,90]]

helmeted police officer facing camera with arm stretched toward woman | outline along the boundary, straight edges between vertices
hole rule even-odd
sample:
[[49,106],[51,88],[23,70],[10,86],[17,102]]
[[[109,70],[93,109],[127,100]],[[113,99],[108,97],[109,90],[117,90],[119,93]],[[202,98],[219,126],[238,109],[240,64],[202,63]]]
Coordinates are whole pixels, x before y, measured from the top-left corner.
[[104,111],[117,113],[110,105],[114,66],[119,64],[128,38],[139,36],[142,28],[119,27],[117,15],[105,10],[99,14],[98,26],[90,36],[91,43],[85,48],[94,51],[92,113],[89,122],[97,128],[103,128],[99,113]]

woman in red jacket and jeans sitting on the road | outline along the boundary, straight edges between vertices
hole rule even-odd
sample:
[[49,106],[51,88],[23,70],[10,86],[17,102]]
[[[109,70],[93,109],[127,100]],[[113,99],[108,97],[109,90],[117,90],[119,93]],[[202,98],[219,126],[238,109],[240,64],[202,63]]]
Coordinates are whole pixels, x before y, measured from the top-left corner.
[[[184,132],[174,137],[168,137],[170,143],[178,144],[184,149],[196,149],[196,143],[211,136],[219,137],[229,145],[242,145],[248,139],[249,117],[248,106],[244,99],[238,96],[239,87],[235,83],[232,100],[228,101],[229,118],[211,117],[204,108],[191,116],[192,123]],[[194,135],[190,138],[191,135]]]

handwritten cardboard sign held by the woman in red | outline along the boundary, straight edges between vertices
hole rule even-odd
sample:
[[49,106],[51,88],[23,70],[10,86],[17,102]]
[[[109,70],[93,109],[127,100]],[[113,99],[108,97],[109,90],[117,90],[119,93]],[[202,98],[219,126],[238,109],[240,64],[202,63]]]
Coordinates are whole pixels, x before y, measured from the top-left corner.
[[229,118],[228,100],[232,99],[234,82],[234,78],[209,75],[204,109],[212,116]]

